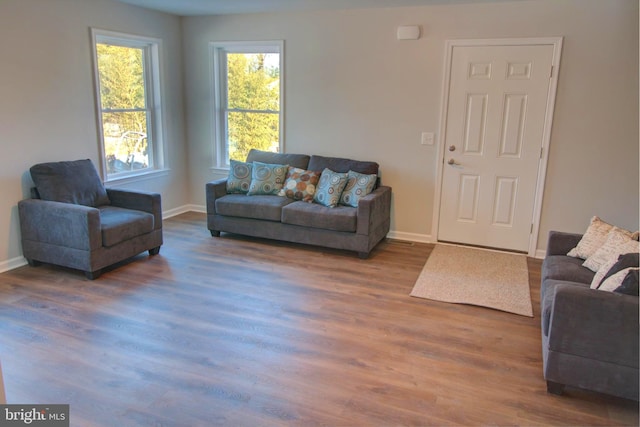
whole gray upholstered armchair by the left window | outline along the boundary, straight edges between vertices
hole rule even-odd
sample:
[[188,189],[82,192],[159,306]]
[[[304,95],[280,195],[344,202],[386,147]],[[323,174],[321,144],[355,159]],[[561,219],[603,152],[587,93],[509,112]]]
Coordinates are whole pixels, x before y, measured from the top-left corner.
[[32,199],[18,202],[29,265],[61,265],[96,279],[102,269],[162,245],[160,195],[106,189],[90,160],[30,169]]

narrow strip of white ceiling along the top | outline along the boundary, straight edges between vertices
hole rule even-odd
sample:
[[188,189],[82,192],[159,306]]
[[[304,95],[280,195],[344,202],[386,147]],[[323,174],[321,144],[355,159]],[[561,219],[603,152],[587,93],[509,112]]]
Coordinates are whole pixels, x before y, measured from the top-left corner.
[[180,16],[487,3],[506,0],[119,0]]

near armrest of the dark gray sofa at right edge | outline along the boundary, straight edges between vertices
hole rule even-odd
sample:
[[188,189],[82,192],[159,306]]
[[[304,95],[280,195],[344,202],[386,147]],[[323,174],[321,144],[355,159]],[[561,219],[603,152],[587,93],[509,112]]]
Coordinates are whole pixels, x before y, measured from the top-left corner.
[[638,366],[638,298],[570,283],[555,287],[549,349]]

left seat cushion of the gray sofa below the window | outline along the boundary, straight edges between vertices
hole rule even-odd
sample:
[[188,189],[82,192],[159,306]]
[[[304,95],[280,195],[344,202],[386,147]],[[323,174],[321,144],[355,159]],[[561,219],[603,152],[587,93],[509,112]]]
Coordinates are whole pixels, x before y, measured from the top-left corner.
[[227,194],[216,199],[216,213],[240,218],[280,221],[282,207],[293,200],[280,196]]

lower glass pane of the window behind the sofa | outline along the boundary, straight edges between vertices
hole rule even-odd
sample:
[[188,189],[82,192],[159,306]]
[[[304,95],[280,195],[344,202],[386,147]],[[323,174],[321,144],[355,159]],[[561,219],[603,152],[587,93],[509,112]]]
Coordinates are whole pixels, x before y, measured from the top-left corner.
[[245,161],[249,150],[278,152],[280,149],[280,117],[270,113],[227,114],[229,159]]

